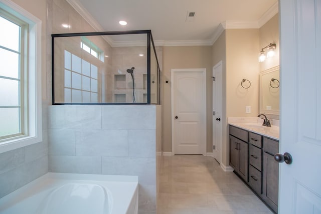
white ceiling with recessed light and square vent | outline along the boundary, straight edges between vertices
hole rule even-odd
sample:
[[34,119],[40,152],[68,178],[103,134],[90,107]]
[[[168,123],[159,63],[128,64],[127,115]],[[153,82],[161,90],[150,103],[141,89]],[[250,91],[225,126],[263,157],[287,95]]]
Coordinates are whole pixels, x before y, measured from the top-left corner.
[[[213,41],[224,28],[259,28],[277,0],[67,0],[98,31],[151,30],[154,41]],[[186,22],[188,12],[195,20]],[[127,26],[120,26],[120,20]]]

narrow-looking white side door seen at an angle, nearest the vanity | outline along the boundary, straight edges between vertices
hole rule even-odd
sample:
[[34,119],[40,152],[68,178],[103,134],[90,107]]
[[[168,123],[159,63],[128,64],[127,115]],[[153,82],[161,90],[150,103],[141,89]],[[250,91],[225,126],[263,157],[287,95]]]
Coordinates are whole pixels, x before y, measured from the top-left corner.
[[222,61],[213,67],[213,157],[222,158]]

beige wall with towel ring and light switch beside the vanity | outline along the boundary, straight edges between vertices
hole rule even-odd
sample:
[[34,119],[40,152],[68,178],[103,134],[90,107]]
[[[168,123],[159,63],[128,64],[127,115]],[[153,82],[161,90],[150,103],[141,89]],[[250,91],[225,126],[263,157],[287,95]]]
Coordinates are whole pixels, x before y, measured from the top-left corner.
[[[229,165],[228,117],[257,116],[259,112],[258,29],[226,30],[212,46],[212,65],[223,64],[222,163]],[[242,79],[251,87],[241,87]],[[251,106],[251,113],[245,113]]]

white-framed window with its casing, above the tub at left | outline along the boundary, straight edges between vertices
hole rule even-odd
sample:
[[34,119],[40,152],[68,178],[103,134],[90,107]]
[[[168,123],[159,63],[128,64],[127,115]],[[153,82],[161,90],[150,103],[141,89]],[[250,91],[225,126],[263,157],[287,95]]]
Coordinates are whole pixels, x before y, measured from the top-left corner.
[[0,2],[0,153],[42,140],[41,21]]

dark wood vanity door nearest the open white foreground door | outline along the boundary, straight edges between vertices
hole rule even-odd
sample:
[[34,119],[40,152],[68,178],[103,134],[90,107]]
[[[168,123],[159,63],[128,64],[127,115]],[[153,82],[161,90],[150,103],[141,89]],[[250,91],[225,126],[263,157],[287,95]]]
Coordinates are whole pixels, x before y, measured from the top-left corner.
[[277,212],[279,190],[279,164],[274,156],[263,153],[263,194],[262,198]]

